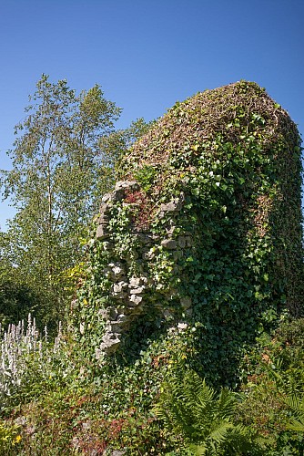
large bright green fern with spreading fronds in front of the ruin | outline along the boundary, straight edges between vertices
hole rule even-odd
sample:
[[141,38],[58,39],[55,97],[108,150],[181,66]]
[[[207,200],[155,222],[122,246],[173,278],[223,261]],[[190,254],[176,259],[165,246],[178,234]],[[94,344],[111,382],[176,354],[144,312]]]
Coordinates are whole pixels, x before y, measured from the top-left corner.
[[155,411],[167,429],[184,437],[193,454],[236,456],[253,448],[248,430],[232,421],[237,403],[229,389],[217,395],[196,372],[175,371],[163,384]]

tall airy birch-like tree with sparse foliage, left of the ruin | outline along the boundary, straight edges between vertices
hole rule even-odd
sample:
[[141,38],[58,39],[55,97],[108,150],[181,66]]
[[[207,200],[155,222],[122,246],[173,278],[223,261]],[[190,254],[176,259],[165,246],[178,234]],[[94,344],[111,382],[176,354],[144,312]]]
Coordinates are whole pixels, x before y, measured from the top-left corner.
[[82,254],[79,239],[113,181],[99,141],[120,109],[96,85],[79,96],[66,80],[38,81],[25,119],[15,127],[13,170],[2,171],[4,197],[16,214],[3,246],[25,283],[61,312],[61,273]]

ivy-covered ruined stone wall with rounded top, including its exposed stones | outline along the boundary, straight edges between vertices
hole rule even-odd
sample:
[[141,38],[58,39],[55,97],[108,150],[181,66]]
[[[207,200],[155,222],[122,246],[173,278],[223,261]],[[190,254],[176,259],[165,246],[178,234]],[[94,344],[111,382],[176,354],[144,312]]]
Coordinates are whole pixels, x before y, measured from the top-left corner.
[[184,356],[235,384],[258,332],[303,315],[300,155],[296,125],[256,83],[169,109],[96,218],[72,311],[86,368],[153,347],[158,364]]

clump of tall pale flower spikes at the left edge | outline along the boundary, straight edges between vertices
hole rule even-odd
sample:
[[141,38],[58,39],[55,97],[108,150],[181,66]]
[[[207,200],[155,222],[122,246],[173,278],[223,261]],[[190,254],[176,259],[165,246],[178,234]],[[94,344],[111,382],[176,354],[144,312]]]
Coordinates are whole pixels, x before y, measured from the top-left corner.
[[63,344],[61,324],[54,342],[49,341],[46,327],[44,334],[39,333],[30,314],[27,324],[23,320],[8,326],[0,350],[0,412],[50,388],[62,370]]

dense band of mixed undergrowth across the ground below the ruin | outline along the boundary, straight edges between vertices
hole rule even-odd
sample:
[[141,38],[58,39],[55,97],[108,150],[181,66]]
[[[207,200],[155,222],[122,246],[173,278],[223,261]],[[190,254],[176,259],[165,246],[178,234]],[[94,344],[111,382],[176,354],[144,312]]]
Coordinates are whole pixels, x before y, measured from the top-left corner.
[[191,371],[178,328],[148,340],[135,362],[113,359],[86,378],[65,342],[58,357],[46,341],[34,349],[24,338],[27,370],[2,402],[1,454],[300,455],[303,329],[304,319],[284,317],[275,331],[262,331],[243,354],[235,392]]

